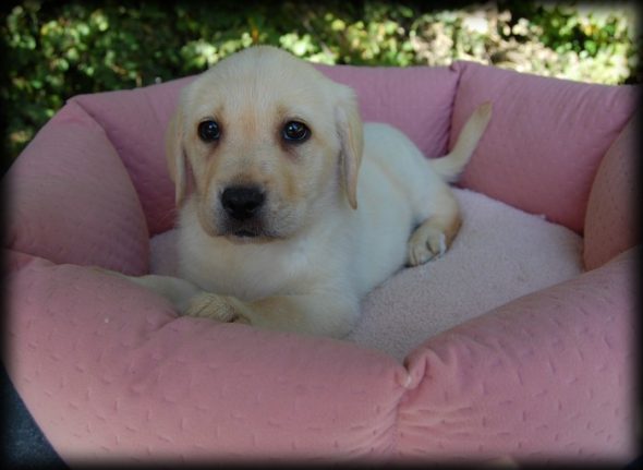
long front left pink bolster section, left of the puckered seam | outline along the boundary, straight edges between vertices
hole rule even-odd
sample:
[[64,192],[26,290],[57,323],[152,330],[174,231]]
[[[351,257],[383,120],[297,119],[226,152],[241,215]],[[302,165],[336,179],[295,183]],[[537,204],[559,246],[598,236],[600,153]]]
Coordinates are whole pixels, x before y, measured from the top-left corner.
[[70,463],[393,451],[407,373],[392,359],[327,338],[177,317],[109,275],[9,258],[22,266],[10,281],[8,306],[21,314],[8,325],[9,372]]

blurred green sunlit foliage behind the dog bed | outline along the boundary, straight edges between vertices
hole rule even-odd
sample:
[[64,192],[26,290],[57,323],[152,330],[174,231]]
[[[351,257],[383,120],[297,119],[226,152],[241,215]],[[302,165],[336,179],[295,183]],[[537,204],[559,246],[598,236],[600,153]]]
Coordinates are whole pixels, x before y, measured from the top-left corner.
[[472,60],[575,81],[639,83],[634,5],[517,0],[3,3],[3,168],[76,94],[195,74],[255,44],[329,64]]

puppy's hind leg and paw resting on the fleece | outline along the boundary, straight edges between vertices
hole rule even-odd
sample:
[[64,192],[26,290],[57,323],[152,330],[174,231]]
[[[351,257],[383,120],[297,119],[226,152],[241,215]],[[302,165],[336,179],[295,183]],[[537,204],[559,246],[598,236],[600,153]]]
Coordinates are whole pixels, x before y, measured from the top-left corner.
[[447,185],[432,197],[432,203],[436,208],[409,240],[409,266],[418,266],[445,254],[460,229],[458,202]]

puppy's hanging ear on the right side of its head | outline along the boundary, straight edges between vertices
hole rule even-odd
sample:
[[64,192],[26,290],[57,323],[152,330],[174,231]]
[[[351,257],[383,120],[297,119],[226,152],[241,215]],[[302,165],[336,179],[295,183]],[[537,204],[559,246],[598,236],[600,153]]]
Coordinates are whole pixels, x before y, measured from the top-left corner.
[[349,203],[353,209],[356,209],[357,173],[364,150],[364,135],[357,98],[351,88],[342,86],[335,115],[337,133],[341,144],[339,160],[342,181]]

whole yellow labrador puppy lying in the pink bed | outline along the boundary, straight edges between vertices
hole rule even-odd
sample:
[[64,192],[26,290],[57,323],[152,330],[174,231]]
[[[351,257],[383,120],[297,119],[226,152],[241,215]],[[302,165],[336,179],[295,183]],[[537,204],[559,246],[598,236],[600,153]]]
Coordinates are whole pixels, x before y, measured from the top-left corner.
[[185,315],[341,337],[360,299],[460,227],[452,181],[490,118],[428,160],[396,129],[362,124],[353,91],[272,47],[187,86],[167,132],[179,277],[128,277]]

